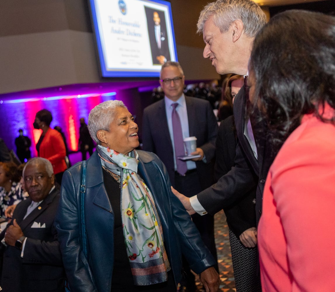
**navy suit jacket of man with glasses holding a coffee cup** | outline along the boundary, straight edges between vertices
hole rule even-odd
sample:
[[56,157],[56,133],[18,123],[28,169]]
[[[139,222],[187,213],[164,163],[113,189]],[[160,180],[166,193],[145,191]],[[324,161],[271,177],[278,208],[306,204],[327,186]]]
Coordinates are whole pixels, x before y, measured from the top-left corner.
[[[213,183],[213,165],[217,123],[212,107],[207,100],[185,96],[190,137],[197,138],[206,156],[207,163],[196,161],[202,189]],[[144,109],[142,126],[143,150],[154,152],[163,161],[169,173],[171,184],[175,186],[175,166],[173,148],[167,125],[165,102],[159,100]]]

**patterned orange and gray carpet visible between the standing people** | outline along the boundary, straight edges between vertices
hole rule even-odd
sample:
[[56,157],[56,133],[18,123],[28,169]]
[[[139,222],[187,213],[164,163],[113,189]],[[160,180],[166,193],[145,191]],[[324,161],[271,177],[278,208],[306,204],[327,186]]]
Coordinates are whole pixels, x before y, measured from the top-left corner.
[[[226,216],[223,210],[215,214],[215,243],[217,249],[217,261],[220,271],[220,291],[236,292],[234,271],[231,262],[231,252],[229,245],[229,230],[226,222]],[[205,291],[199,277],[196,276],[197,292]]]

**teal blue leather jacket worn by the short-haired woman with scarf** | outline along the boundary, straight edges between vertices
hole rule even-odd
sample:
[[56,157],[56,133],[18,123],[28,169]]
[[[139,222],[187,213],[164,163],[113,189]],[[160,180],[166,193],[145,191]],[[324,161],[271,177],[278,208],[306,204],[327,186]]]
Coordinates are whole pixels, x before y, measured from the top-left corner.
[[[182,254],[190,268],[200,274],[214,266],[215,260],[179,199],[172,193],[166,168],[157,155],[138,150],[139,165],[149,187],[163,228],[164,246],[175,283],[181,279]],[[103,181],[97,152],[87,160],[85,223],[87,258],[82,251],[80,222],[80,186],[82,163],[64,172],[61,199],[56,215],[58,240],[71,292],[110,292],[114,262],[114,212]]]

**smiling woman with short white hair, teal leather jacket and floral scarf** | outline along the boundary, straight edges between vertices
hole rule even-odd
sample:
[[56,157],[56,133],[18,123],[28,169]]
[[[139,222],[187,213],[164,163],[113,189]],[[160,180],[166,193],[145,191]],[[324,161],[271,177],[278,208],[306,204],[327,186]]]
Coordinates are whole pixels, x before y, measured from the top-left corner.
[[163,163],[135,149],[138,127],[124,103],[95,106],[88,129],[97,147],[87,160],[85,188],[79,162],[64,173],[56,218],[71,291],[176,291],[182,254],[206,291],[217,291],[215,260],[171,192]]

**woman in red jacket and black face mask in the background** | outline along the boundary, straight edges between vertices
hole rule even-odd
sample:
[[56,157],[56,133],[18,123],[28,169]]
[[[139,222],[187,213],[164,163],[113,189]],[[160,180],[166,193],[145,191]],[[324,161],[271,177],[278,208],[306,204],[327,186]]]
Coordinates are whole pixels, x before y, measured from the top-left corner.
[[34,122],[35,129],[43,132],[36,144],[38,155],[47,158],[54,168],[57,183],[61,184],[62,177],[67,165],[65,162],[66,148],[62,135],[50,128],[52,114],[48,110],[37,112]]

